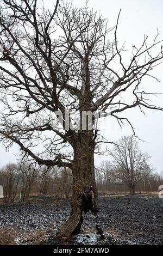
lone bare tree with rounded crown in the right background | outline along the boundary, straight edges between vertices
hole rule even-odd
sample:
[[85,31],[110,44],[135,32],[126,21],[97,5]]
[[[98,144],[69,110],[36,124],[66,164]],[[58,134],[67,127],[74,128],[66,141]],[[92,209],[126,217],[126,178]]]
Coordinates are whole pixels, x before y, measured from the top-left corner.
[[122,137],[109,154],[114,159],[117,178],[123,180],[131,194],[135,194],[136,185],[153,170],[147,163],[149,155],[140,151],[133,136]]

